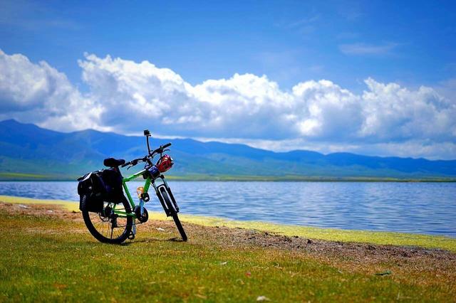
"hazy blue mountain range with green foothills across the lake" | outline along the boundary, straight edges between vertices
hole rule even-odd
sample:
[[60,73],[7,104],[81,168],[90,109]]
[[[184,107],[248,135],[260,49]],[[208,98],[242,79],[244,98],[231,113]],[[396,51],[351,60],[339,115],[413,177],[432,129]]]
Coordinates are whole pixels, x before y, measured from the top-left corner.
[[[456,160],[274,152],[193,139],[152,139],[151,145],[166,142],[176,163],[170,175],[184,179],[456,179]],[[128,160],[145,152],[144,137],[0,122],[0,179],[74,179],[101,168],[108,156]]]

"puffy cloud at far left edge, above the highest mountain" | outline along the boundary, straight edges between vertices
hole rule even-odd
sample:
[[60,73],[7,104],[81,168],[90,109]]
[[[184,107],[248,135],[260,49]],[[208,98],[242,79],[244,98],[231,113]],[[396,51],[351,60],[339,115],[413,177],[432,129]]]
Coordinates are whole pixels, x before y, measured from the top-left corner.
[[0,119],[15,118],[60,130],[98,127],[100,106],[84,98],[66,75],[41,61],[0,50]]

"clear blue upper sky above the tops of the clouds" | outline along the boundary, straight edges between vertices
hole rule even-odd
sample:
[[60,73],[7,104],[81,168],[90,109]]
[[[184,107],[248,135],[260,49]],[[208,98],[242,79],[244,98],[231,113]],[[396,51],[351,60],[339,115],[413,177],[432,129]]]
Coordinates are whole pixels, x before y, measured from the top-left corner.
[[[5,1],[2,1],[5,2]],[[149,60],[188,82],[266,74],[284,89],[456,74],[454,1],[6,1],[1,48],[81,83],[83,53]]]

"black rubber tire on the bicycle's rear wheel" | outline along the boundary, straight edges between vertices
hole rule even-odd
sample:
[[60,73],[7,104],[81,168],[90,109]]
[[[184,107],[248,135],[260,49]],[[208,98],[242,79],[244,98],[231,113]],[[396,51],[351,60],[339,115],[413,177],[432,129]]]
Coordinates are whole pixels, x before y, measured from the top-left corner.
[[[104,203],[107,203],[107,202],[104,202]],[[118,204],[123,205],[126,213],[131,213],[130,203],[128,203],[128,201],[126,199],[123,199],[122,203],[118,203]],[[111,238],[107,238],[107,237],[105,237],[105,235],[103,235],[102,233],[100,233],[98,231],[98,229],[95,227],[94,223],[92,222],[92,218],[95,218],[96,215],[98,215],[101,218],[100,213],[89,213],[88,211],[83,211],[82,213],[83,213],[84,223],[86,223],[86,227],[87,227],[88,231],[90,232],[91,235],[93,235],[93,237],[95,239],[97,239],[98,241],[100,241],[102,243],[120,244],[120,243],[123,243],[125,240],[127,240],[131,234],[131,230],[133,227],[133,217],[132,216],[127,216],[127,218],[125,220],[125,222],[126,222],[125,226],[123,226],[123,227],[125,227],[125,229],[123,230],[122,233],[120,233],[118,235],[118,237],[112,238],[114,228],[111,228],[111,233],[110,233]],[[95,217],[94,217],[94,214],[95,214]],[[112,223],[108,223],[108,230],[109,230],[110,224],[112,226]],[[104,224],[103,224],[102,228],[104,229]]]

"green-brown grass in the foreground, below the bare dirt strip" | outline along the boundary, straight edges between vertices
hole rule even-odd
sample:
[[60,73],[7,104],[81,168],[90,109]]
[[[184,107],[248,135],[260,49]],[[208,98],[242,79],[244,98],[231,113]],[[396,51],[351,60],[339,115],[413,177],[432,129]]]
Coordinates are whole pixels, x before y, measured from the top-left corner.
[[[401,272],[393,262],[350,269],[343,257],[324,262],[293,251],[217,245],[200,235],[182,243],[160,232],[105,245],[81,222],[2,211],[0,224],[0,301],[454,300],[454,282],[446,280],[452,276]],[[392,275],[373,273],[391,269]]]

